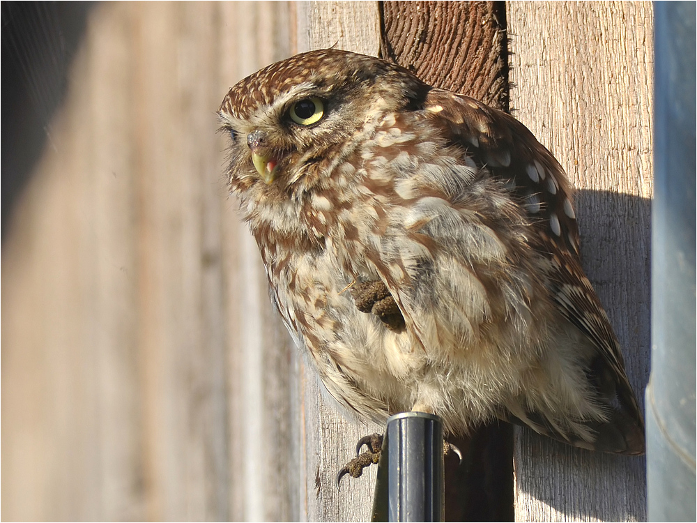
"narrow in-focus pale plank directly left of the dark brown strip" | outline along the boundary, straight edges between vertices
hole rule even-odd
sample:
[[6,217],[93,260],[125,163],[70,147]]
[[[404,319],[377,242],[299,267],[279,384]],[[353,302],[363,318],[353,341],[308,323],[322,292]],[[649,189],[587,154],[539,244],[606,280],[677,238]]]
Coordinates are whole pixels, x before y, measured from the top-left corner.
[[[296,10],[296,51],[336,47],[377,56],[380,26],[376,2],[307,1]],[[308,365],[302,365],[301,462],[305,477],[300,485],[301,513],[307,521],[368,521],[372,509],[375,467],[358,480],[335,485],[336,473],[355,455],[360,437],[382,432],[339,411]]]

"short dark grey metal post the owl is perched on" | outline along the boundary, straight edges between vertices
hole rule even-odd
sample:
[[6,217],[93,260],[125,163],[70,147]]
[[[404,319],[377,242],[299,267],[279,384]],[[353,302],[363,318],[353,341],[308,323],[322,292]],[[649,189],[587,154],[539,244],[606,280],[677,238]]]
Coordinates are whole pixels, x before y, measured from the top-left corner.
[[379,467],[373,521],[443,521],[441,418],[423,412],[389,418]]

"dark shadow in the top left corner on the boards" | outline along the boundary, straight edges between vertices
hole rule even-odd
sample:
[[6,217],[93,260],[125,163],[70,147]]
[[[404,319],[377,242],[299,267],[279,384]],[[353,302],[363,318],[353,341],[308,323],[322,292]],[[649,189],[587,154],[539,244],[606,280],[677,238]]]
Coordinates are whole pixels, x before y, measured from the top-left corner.
[[92,2],[0,3],[2,16],[2,227],[47,146],[68,69]]

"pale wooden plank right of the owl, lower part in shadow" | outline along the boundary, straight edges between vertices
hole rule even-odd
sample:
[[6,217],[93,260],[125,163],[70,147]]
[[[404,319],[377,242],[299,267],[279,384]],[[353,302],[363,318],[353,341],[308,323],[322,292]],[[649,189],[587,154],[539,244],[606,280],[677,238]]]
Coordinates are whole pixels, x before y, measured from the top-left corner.
[[[638,400],[650,349],[652,6],[507,4],[512,113],[578,189],[581,256]],[[516,520],[645,520],[645,461],[520,430]]]

